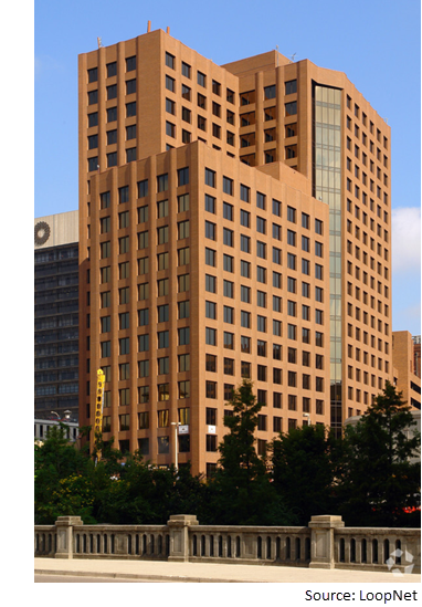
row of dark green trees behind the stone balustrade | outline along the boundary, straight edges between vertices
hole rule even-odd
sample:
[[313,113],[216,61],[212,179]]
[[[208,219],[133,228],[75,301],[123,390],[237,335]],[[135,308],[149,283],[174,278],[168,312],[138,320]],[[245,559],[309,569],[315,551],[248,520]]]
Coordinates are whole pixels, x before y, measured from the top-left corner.
[[252,381],[228,407],[210,479],[192,477],[189,465],[157,469],[138,452],[124,457],[101,437],[89,454],[67,442],[64,428],[52,428],[35,444],[35,522],[73,514],[85,523],[165,524],[182,512],[202,524],[306,525],[315,514],[341,514],[356,526],[420,524],[420,511],[407,511],[420,505],[421,437],[391,384],[342,439],[304,426],[281,433],[266,454],[256,452],[262,405]]

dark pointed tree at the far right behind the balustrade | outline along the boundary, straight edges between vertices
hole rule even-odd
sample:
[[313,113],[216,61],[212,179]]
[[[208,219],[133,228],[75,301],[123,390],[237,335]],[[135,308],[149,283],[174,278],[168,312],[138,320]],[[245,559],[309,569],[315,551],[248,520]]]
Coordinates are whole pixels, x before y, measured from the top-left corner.
[[356,428],[345,432],[338,495],[348,525],[409,525],[404,509],[420,505],[421,436],[411,408],[389,381]]

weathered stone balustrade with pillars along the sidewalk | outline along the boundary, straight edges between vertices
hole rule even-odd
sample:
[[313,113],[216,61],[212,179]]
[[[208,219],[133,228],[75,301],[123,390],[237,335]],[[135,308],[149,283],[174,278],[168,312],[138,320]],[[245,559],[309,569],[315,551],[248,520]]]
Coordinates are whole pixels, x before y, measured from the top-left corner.
[[35,526],[35,556],[286,565],[420,573],[420,530],[345,527],[313,516],[307,527],[199,525],[189,514],[167,525],[84,525],[59,516]]

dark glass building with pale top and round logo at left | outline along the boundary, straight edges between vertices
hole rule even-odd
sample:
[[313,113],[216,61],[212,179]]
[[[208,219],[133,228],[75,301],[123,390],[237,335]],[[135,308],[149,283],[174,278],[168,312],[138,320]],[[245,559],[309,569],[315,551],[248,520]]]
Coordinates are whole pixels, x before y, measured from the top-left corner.
[[78,212],[34,221],[38,419],[78,419]]

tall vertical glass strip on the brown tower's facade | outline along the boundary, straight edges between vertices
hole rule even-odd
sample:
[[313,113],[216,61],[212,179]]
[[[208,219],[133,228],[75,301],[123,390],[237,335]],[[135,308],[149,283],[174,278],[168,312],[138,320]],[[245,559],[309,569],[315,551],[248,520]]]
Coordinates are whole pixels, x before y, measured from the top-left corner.
[[314,196],[329,205],[330,419],[341,432],[341,91],[314,84]]

